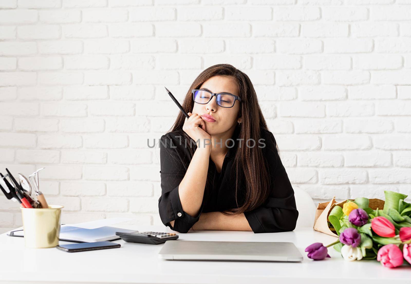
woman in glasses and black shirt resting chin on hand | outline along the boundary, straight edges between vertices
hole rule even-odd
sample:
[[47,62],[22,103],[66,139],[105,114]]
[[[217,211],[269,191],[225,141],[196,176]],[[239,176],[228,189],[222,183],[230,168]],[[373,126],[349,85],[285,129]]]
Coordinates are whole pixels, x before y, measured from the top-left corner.
[[295,229],[294,191],[248,76],[211,66],[182,107],[190,117],[160,139],[162,222],[180,233]]

